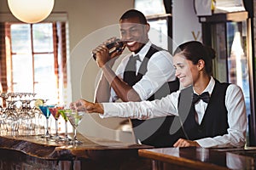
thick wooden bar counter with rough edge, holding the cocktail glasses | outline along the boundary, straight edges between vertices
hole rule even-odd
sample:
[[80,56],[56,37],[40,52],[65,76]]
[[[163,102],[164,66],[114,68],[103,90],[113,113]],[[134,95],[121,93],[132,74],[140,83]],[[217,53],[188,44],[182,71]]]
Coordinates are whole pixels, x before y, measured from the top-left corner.
[[0,169],[152,169],[137,150],[152,148],[108,139],[84,137],[82,144],[56,143],[41,135],[1,135]]

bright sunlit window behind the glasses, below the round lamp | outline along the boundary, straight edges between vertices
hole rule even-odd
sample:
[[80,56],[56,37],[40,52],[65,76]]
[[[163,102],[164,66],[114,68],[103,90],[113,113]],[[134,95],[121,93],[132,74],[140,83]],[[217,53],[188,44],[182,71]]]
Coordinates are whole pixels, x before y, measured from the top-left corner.
[[65,22],[6,22],[3,26],[3,91],[35,93],[49,103],[62,103],[67,87]]

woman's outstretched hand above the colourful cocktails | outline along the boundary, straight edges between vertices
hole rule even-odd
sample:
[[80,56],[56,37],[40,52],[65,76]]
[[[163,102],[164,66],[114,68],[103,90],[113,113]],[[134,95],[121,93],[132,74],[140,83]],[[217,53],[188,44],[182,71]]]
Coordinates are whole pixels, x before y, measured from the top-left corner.
[[86,101],[85,99],[79,99],[75,102],[72,102],[69,105],[70,109],[76,110],[76,111],[84,111],[86,113],[104,113],[104,109],[102,104],[100,103],[91,103],[89,101]]

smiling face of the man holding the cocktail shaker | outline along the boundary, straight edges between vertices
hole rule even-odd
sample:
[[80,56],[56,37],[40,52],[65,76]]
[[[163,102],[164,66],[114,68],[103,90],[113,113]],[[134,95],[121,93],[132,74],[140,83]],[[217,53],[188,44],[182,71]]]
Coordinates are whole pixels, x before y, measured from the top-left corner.
[[140,24],[138,17],[120,20],[121,40],[131,52],[137,53],[148,42],[149,25]]

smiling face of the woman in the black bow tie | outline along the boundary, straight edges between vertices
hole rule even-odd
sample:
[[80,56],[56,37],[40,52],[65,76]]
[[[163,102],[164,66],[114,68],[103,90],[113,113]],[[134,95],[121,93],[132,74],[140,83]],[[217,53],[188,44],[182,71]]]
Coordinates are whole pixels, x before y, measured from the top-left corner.
[[192,61],[186,59],[183,54],[175,54],[173,56],[173,65],[176,69],[175,76],[184,88],[196,82],[199,76],[197,65],[193,65]]

